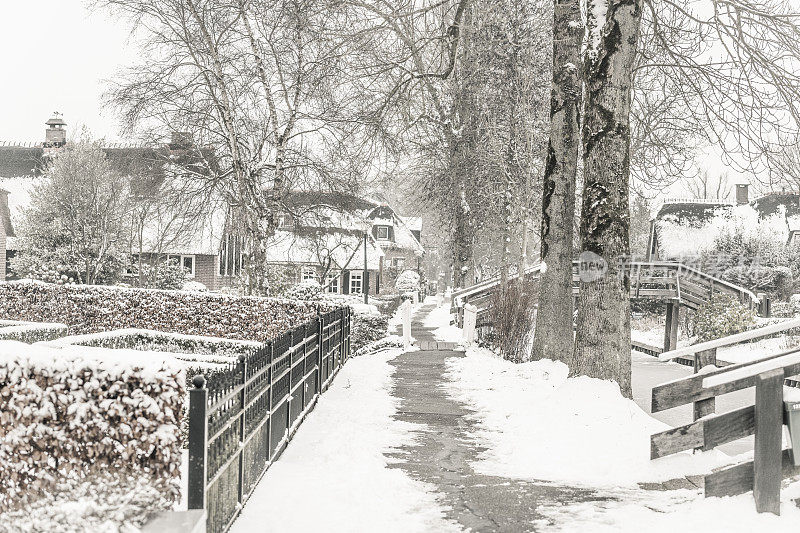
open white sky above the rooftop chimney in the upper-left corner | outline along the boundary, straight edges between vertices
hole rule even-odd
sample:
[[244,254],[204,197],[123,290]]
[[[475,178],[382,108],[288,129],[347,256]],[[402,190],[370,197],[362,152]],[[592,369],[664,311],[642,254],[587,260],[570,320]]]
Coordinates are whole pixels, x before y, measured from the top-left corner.
[[0,16],[0,141],[41,142],[45,121],[63,113],[68,134],[120,140],[103,113],[103,80],[135,59],[129,29],[84,0],[3,0]]

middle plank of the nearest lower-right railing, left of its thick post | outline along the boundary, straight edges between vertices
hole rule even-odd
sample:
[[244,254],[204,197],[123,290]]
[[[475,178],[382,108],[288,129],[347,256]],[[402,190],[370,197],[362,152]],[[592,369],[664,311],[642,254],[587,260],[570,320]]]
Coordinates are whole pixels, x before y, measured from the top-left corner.
[[754,431],[755,407],[751,405],[652,435],[650,458],[698,448],[708,451],[752,435]]

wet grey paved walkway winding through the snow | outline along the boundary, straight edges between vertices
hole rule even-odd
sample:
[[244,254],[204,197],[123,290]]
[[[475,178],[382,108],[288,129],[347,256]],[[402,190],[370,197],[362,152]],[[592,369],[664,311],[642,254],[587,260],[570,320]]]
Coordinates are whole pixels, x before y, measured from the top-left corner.
[[[434,307],[426,305],[415,315],[412,335],[419,343],[435,340],[422,325]],[[537,513],[543,504],[606,499],[589,490],[476,473],[470,462],[481,448],[471,438],[476,431],[473,412],[444,389],[445,360],[463,356],[453,350],[430,350],[409,352],[392,362],[392,394],[401,401],[395,418],[423,426],[416,442],[395,454],[401,460],[396,467],[434,485],[449,508],[447,518],[472,531],[533,531],[533,522],[544,518]]]

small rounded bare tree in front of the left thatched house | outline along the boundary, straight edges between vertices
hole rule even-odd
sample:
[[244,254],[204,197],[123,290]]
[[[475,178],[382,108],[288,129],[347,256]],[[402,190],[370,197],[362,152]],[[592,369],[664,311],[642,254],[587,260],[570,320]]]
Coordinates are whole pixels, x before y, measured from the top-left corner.
[[86,284],[116,280],[130,234],[126,178],[87,140],[57,154],[45,177],[23,211],[15,270]]

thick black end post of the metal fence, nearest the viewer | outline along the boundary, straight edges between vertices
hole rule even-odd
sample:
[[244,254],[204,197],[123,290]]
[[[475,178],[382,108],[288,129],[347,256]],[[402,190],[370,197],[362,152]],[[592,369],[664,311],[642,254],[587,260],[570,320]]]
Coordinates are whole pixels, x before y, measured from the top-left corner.
[[206,508],[206,468],[208,465],[208,389],[206,378],[199,374],[192,378],[194,388],[189,391],[189,479],[187,485],[188,509]]

